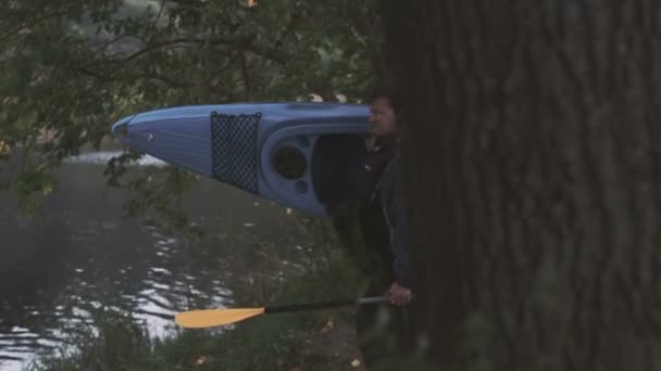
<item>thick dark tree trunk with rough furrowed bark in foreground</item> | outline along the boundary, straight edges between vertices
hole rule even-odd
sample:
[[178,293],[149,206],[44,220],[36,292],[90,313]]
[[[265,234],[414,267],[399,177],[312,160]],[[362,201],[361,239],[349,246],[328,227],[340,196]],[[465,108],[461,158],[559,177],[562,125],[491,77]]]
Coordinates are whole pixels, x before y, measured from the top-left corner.
[[661,2],[381,3],[434,359],[661,368]]

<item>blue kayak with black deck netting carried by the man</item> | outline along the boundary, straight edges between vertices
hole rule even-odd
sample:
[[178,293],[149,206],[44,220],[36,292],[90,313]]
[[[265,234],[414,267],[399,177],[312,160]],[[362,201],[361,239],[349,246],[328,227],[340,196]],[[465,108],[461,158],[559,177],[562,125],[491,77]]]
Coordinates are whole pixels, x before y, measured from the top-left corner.
[[124,144],[284,206],[326,216],[352,187],[369,107],[340,103],[190,105],[124,117]]

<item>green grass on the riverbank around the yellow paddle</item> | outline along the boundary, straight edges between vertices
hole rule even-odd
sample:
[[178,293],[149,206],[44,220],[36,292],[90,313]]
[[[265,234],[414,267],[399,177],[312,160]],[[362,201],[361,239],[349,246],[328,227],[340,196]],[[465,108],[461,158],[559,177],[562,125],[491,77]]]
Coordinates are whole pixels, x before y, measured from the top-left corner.
[[[267,305],[296,304],[356,297],[362,280],[344,250],[329,239],[325,227],[315,226],[323,254],[303,273],[271,282],[275,287]],[[317,241],[317,243],[320,243]],[[251,306],[248,304],[247,306]],[[96,328],[76,340],[77,349],[41,357],[29,369],[39,371],[122,370],[292,370],[315,369],[326,361],[322,351],[307,346],[311,333],[333,316],[350,320],[349,309],[260,316],[219,333],[186,330],[153,340],[126,315],[102,312]]]

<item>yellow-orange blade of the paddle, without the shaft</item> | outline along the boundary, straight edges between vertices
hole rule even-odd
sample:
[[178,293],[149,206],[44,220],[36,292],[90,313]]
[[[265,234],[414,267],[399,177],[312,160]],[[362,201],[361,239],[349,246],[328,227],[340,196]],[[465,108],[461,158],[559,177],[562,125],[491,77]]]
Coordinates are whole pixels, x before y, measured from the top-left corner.
[[263,312],[264,308],[200,309],[176,314],[174,321],[183,328],[203,329],[242,321]]

